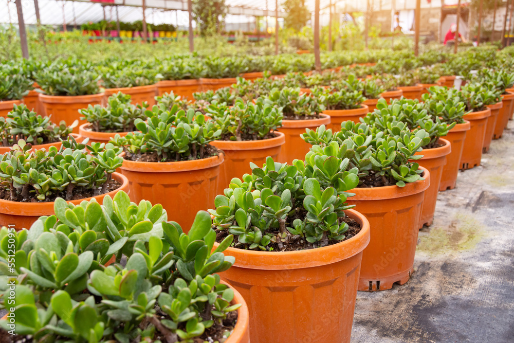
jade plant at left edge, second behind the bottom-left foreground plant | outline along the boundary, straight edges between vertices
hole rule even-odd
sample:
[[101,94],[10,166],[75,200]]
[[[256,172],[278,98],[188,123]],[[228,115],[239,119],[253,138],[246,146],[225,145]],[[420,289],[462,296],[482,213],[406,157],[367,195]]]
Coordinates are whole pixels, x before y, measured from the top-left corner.
[[64,120],[57,125],[50,119],[51,116],[42,117],[23,104],[14,105],[7,118],[0,117],[2,146],[12,147],[20,139],[32,146],[58,142],[60,139],[67,139],[73,128],[78,125],[78,120],[67,126]]

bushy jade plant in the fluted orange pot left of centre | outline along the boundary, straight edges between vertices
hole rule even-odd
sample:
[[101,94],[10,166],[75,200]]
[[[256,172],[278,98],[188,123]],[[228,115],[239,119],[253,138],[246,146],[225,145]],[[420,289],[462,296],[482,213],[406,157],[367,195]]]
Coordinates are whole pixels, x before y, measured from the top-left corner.
[[125,159],[138,160],[143,156],[150,161],[168,162],[207,158],[217,154],[209,142],[221,135],[211,119],[189,109],[187,112],[175,104],[169,110],[164,104],[146,111],[148,120],[134,121],[137,132],[111,141],[125,152]]

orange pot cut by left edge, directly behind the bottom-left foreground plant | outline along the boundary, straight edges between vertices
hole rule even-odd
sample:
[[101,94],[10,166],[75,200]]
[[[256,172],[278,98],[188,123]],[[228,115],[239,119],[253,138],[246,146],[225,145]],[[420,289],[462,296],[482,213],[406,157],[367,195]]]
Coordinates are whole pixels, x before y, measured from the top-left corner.
[[[121,183],[120,188],[114,191],[94,196],[99,204],[102,204],[105,196],[114,196],[119,191],[128,192],[128,179],[118,173],[113,173],[113,178]],[[78,205],[83,201],[89,201],[93,197],[84,199],[71,200],[68,203]],[[55,214],[53,211],[53,202],[46,203],[21,203],[16,201],[8,201],[0,199],[0,226],[14,227],[16,230],[30,228],[30,226],[38,220],[42,215]],[[13,226],[14,225],[14,226]]]

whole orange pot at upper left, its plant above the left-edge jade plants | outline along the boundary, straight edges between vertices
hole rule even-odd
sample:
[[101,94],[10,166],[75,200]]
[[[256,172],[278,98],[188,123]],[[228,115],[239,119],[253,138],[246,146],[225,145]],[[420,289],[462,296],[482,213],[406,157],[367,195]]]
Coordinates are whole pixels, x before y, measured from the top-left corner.
[[[87,121],[80,119],[82,115],[79,113],[79,110],[87,108],[87,105],[101,105],[103,96],[103,93],[72,97],[40,94],[39,101],[44,115],[52,115],[54,123],[64,120],[66,124],[70,125],[75,120],[78,120],[79,125],[81,125]],[[75,127],[73,132],[79,133],[79,127]]]

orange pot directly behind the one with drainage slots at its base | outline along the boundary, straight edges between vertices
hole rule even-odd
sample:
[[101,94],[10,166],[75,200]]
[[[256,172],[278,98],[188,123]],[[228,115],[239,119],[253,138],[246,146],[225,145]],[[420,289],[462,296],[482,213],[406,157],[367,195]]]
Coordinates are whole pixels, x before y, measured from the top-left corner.
[[430,172],[430,186],[425,190],[423,199],[423,207],[421,208],[421,220],[419,228],[423,225],[430,226],[434,220],[435,204],[437,202],[437,193],[441,185],[441,177],[443,176],[444,166],[446,165],[447,156],[451,152],[451,143],[443,138],[439,138],[440,143],[444,146],[433,149],[423,149],[414,155],[423,155],[416,162]]

